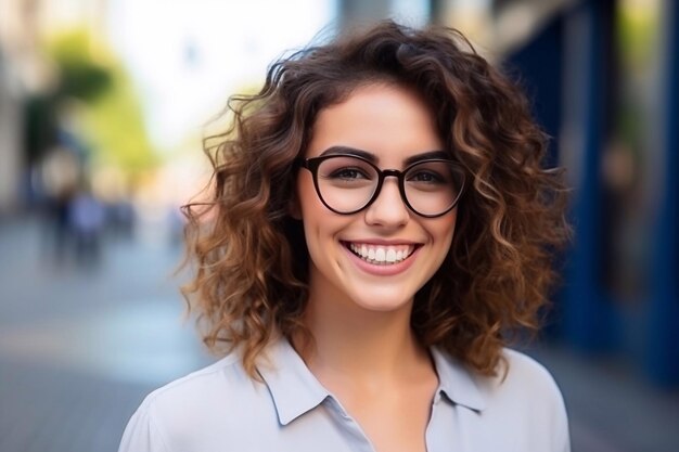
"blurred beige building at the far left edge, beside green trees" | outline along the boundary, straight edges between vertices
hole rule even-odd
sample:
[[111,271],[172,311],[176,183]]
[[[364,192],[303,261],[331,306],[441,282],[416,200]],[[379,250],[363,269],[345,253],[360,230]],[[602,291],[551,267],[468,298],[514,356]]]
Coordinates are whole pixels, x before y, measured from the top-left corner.
[[0,0],[0,216],[34,201],[41,160],[60,144],[55,112],[46,106],[59,74],[43,39],[74,24],[101,27],[105,4]]

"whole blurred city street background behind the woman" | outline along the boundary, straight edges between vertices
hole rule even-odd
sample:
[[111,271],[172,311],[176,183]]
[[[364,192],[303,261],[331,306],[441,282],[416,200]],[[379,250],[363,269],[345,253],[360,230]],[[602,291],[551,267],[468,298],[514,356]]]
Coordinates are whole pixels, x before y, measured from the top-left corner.
[[384,17],[461,29],[567,169],[576,238],[526,351],[573,450],[679,451],[675,0],[0,0],[0,452],[115,451],[144,395],[214,360],[176,273],[206,125],[276,57]]

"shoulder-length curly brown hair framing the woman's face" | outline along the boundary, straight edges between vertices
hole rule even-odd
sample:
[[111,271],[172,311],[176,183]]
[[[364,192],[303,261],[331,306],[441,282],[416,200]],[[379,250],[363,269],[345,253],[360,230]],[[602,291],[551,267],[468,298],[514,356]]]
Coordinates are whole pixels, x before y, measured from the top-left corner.
[[414,89],[467,172],[452,246],[418,292],[411,325],[472,370],[497,371],[511,332],[536,331],[568,238],[561,171],[521,90],[457,30],[383,22],[273,63],[261,90],[230,99],[231,125],[205,139],[214,177],[187,206],[194,280],[182,288],[214,351],[255,359],[276,335],[308,335],[308,250],[291,218],[294,162],[318,113],[370,83]]

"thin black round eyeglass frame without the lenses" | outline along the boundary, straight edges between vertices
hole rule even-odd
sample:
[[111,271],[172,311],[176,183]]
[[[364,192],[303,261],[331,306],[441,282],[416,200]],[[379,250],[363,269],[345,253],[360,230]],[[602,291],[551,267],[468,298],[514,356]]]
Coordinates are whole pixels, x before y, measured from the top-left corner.
[[[364,162],[367,165],[371,166],[377,173],[377,185],[375,185],[375,190],[370,196],[370,199],[368,199],[366,205],[363,205],[362,207],[356,210],[340,211],[337,209],[334,209],[325,202],[325,199],[323,199],[323,195],[321,195],[321,189],[318,183],[318,168],[324,160],[328,160],[330,158],[336,158],[336,157],[350,157],[350,158],[356,158],[358,160]],[[373,164],[369,159],[361,157],[359,155],[355,155],[355,154],[330,154],[330,155],[321,155],[319,157],[311,157],[311,158],[299,157],[297,158],[296,162],[297,162],[297,165],[299,165],[299,167],[306,168],[309,172],[311,172],[311,178],[313,179],[313,188],[316,189],[316,194],[318,195],[318,198],[321,199],[321,203],[323,203],[323,205],[328,207],[329,210],[338,215],[354,215],[370,207],[370,205],[374,203],[375,199],[377,199],[377,196],[380,196],[380,193],[382,192],[382,185],[384,183],[384,179],[388,177],[394,177],[398,180],[398,191],[401,195],[401,199],[403,204],[406,204],[406,206],[412,212],[424,218],[443,217],[444,215],[448,214],[450,210],[454,209],[456,206],[460,203],[460,199],[462,198],[462,194],[464,193],[464,189],[466,186],[466,176],[462,166],[457,164],[454,160],[450,160],[446,158],[427,158],[425,160],[415,162],[412,165],[409,165],[408,167],[406,167],[402,171],[398,169],[380,169],[375,164]],[[460,183],[460,190],[456,199],[451,203],[450,207],[448,207],[443,212],[436,214],[436,215],[427,215],[427,214],[419,212],[410,205],[410,202],[408,201],[408,197],[406,196],[406,175],[415,166],[426,164],[426,163],[445,163],[445,164],[451,165],[452,167],[459,170],[459,173],[462,177],[462,180]]]

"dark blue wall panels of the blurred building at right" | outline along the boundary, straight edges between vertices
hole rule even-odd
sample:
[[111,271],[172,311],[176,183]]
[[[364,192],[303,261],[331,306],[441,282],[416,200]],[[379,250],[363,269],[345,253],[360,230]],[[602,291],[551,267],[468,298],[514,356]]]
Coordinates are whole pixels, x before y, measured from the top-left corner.
[[[575,241],[563,256],[563,288],[548,333],[586,353],[623,353],[644,369],[650,380],[659,386],[679,385],[679,8],[666,2],[663,26],[664,104],[662,168],[654,243],[649,266],[650,287],[640,300],[641,314],[622,319],[622,302],[604,287],[611,259],[608,202],[602,188],[602,150],[611,132],[616,82],[614,49],[615,1],[580,1],[547,24],[523,48],[509,55],[507,66],[516,70],[534,103],[534,114],[545,130],[559,137],[564,120],[575,122],[580,145],[560,150],[554,139],[548,165],[577,154],[572,221]],[[574,24],[576,25],[574,27]],[[574,33],[575,29],[575,33]],[[577,34],[577,36],[575,36]],[[577,39],[577,46],[568,42]],[[575,51],[573,50],[575,48]],[[568,53],[569,52],[569,53]],[[566,77],[571,79],[566,79]],[[569,95],[563,99],[564,85]],[[571,116],[565,117],[566,103]],[[575,112],[575,114],[573,114]],[[567,159],[573,160],[573,159]],[[572,168],[567,168],[571,170]],[[640,344],[624,344],[633,336],[626,330],[641,331]],[[640,352],[635,352],[638,348]]]

